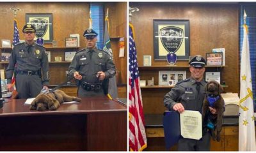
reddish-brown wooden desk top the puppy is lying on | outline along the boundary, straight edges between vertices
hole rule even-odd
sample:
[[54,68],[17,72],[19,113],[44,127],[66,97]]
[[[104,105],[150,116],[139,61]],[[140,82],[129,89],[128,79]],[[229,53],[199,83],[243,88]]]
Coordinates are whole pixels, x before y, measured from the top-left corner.
[[29,110],[30,105],[24,105],[25,101],[26,99],[12,99],[10,102],[3,103],[3,108],[0,108],[0,117],[68,113],[127,112],[127,107],[104,96],[82,98],[82,101],[79,103],[63,103],[57,110],[46,111]]

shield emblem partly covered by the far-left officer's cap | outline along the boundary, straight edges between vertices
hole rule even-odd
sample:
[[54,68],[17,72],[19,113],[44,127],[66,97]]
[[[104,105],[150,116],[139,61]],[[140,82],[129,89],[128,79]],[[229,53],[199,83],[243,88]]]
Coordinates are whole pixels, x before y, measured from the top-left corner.
[[46,31],[49,28],[48,20],[38,17],[38,18],[33,18],[30,22],[35,26],[36,38],[43,38]]

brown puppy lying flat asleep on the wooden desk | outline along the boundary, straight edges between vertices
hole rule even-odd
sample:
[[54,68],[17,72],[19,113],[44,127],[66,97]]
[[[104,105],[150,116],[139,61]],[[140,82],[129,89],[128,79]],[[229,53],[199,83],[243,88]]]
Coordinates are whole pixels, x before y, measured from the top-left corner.
[[56,110],[61,103],[69,101],[81,101],[81,98],[68,96],[61,90],[50,92],[42,89],[41,93],[32,101],[30,110]]

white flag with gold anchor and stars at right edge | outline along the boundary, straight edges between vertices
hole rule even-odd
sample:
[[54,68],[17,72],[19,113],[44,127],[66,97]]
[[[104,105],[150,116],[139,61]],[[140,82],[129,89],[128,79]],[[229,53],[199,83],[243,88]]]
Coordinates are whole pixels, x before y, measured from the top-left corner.
[[250,65],[250,50],[248,41],[248,27],[245,24],[241,55],[240,73],[240,101],[239,101],[239,151],[255,151],[255,119],[253,114],[252,75]]

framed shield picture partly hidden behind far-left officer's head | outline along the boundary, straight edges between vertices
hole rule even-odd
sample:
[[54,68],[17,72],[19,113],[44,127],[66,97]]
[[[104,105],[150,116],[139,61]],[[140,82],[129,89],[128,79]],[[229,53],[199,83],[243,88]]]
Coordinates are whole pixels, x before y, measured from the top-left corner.
[[44,43],[52,43],[52,13],[26,13],[26,23],[35,26],[36,38],[43,38]]

